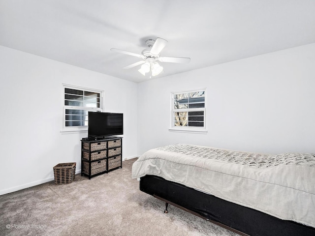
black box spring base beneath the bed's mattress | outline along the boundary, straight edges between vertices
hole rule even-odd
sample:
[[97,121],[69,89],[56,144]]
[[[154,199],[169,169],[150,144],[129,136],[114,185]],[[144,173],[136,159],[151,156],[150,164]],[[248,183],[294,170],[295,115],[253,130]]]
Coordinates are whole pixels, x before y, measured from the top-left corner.
[[240,235],[315,236],[312,227],[282,220],[161,177],[141,177],[140,190],[214,223],[223,224],[223,227]]

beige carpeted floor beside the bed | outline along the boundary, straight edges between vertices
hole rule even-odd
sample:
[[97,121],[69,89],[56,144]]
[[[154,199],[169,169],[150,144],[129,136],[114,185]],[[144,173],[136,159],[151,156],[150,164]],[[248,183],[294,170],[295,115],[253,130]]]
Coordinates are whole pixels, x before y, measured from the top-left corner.
[[236,236],[139,190],[136,159],[92,179],[76,175],[0,196],[1,236]]

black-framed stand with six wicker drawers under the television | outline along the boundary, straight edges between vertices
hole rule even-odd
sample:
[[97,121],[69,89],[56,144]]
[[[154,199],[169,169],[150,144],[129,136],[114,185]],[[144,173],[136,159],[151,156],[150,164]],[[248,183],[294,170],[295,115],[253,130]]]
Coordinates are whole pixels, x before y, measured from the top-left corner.
[[122,168],[123,138],[83,138],[81,140],[81,176],[92,177]]

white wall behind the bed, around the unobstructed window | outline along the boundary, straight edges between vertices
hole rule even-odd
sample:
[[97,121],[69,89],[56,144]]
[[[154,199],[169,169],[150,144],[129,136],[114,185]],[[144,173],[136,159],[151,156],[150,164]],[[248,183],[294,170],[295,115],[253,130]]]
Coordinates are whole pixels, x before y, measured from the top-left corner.
[[[170,93],[202,88],[207,134],[170,132]],[[315,44],[140,83],[139,154],[174,143],[315,152],[314,89]]]

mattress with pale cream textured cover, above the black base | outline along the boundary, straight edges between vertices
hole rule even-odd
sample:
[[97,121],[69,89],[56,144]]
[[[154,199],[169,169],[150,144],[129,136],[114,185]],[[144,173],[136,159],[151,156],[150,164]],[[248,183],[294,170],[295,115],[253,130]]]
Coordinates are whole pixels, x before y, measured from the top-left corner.
[[134,162],[132,178],[145,175],[315,228],[315,154],[175,144],[151,149]]

